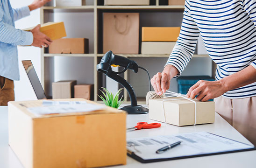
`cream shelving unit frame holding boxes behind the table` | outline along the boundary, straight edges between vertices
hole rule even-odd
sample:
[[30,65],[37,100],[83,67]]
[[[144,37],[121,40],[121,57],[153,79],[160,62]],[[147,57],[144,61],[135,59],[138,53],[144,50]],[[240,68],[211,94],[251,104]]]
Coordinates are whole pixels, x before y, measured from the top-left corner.
[[[93,12],[93,38],[94,38],[94,46],[93,46],[93,53],[90,54],[47,54],[45,53],[44,49],[41,50],[41,82],[43,87],[45,88],[46,85],[47,88],[49,88],[50,83],[47,79],[45,79],[47,74],[49,74],[48,65],[49,61],[45,62],[46,58],[54,57],[54,56],[65,56],[65,57],[93,57],[93,65],[94,65],[94,101],[99,101],[97,99],[98,90],[100,88],[100,77],[102,77],[101,74],[99,74],[96,70],[97,63],[100,62],[100,59],[104,54],[100,53],[102,49],[99,49],[99,29],[102,24],[100,23],[100,20],[102,19],[103,12],[183,12],[184,6],[167,6],[167,5],[159,5],[159,0],[150,0],[150,3],[156,4],[156,5],[149,5],[149,6],[103,6],[103,0],[93,0],[94,5],[88,5],[88,6],[81,6],[81,7],[42,7],[41,8],[41,24],[53,21],[53,14],[55,11],[85,11],[85,12]],[[100,46],[101,47],[101,46]],[[147,57],[147,58],[156,58],[156,57],[163,57],[168,58],[169,55],[148,55],[148,54],[119,54],[120,56],[125,57]],[[194,55],[193,57],[208,57],[207,55]],[[126,72],[124,74],[125,79],[128,79],[128,73]],[[47,83],[48,82],[48,83]],[[128,94],[127,91],[124,92],[124,98],[125,103],[128,103]],[[145,103],[145,98],[138,98],[139,103]]]

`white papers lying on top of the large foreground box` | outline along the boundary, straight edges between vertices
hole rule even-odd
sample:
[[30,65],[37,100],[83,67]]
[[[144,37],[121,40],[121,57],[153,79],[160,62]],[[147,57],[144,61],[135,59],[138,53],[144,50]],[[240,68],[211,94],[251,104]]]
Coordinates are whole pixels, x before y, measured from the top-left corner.
[[69,112],[91,112],[105,108],[104,105],[94,105],[86,101],[49,101],[44,100],[42,106],[30,107],[29,112],[36,116]]

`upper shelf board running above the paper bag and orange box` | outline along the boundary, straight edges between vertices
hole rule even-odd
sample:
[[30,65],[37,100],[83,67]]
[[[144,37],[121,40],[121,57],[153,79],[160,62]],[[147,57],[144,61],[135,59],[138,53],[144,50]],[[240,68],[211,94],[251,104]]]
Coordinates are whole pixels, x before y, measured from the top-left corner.
[[184,9],[183,5],[97,6],[97,9]]

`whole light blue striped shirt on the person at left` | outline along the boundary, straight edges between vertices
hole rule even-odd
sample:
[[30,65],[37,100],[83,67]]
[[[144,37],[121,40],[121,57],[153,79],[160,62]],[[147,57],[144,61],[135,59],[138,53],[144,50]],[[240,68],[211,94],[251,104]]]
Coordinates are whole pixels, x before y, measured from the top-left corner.
[[14,27],[17,21],[30,14],[28,7],[13,9],[9,0],[0,0],[0,76],[19,80],[17,45],[31,45],[33,34]]

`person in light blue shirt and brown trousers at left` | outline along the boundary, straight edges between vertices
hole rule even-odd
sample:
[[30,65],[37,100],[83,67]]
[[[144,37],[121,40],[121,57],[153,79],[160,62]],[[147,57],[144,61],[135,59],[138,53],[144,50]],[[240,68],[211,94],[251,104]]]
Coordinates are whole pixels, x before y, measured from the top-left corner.
[[0,0],[0,105],[14,100],[14,80],[19,80],[17,45],[48,47],[52,42],[37,25],[30,32],[16,29],[14,21],[51,0],[34,0],[29,6],[13,9],[9,0]]

